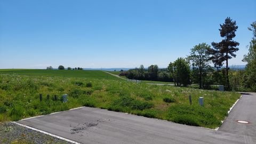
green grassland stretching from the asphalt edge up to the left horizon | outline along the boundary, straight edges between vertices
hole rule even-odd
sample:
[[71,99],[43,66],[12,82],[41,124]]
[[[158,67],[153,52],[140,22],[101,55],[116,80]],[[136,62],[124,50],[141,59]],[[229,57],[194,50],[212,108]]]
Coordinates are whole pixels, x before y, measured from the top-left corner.
[[[67,103],[61,102],[62,94],[68,94]],[[204,97],[203,107],[199,97]],[[88,106],[215,128],[239,97],[234,92],[136,84],[102,71],[0,70],[0,122]]]

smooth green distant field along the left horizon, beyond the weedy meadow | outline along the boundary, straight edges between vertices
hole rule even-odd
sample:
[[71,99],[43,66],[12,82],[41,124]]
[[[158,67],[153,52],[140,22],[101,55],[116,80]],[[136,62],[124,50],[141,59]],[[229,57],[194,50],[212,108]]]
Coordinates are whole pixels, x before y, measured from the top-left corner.
[[46,69],[0,69],[0,74],[21,74],[29,76],[60,76],[122,80],[101,70],[46,70]]

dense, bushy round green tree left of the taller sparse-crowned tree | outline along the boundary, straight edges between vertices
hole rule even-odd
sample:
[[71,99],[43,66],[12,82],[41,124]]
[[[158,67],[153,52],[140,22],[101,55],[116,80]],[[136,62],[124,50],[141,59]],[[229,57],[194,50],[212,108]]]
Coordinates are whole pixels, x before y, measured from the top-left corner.
[[178,58],[173,63],[170,62],[167,69],[173,77],[175,86],[187,86],[190,83],[189,62],[184,58]]

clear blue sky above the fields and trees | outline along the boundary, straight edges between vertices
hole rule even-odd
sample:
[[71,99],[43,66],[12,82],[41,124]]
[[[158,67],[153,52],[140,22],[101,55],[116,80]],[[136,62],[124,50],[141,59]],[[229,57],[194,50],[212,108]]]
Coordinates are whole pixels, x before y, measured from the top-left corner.
[[198,43],[219,42],[236,20],[241,60],[256,1],[0,0],[0,68],[114,68],[167,65]]

